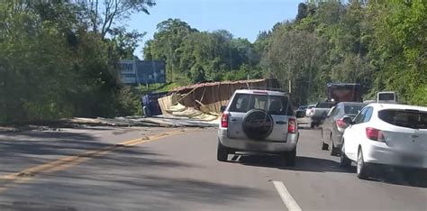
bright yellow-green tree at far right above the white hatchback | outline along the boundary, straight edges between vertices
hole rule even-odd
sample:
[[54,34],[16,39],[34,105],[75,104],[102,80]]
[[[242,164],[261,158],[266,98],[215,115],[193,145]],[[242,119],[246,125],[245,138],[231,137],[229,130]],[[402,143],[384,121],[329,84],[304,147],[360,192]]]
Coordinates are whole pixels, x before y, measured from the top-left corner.
[[410,104],[427,105],[426,10],[425,1],[369,2],[369,56],[377,67],[373,92],[394,90]]

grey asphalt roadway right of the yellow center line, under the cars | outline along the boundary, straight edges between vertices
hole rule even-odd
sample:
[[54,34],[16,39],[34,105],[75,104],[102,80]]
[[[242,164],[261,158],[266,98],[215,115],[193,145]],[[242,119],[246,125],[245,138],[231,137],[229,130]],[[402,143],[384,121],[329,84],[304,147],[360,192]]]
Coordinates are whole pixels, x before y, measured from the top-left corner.
[[[286,210],[273,181],[282,182],[303,210],[427,208],[425,183],[412,184],[400,172],[391,179],[357,179],[354,167],[343,170],[337,157],[320,150],[318,130],[300,132],[292,168],[274,156],[230,156],[234,161],[218,162],[216,130],[193,129],[31,177],[0,192],[0,208]],[[111,136],[100,132],[98,140],[117,142]]]

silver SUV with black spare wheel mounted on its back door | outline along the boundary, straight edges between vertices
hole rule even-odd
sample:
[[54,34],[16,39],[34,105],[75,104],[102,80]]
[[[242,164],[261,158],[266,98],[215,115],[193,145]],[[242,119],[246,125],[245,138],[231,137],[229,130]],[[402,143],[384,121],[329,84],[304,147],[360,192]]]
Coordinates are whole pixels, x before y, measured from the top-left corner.
[[234,92],[218,129],[218,161],[236,151],[275,153],[295,165],[298,128],[289,96],[269,90]]

